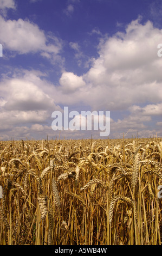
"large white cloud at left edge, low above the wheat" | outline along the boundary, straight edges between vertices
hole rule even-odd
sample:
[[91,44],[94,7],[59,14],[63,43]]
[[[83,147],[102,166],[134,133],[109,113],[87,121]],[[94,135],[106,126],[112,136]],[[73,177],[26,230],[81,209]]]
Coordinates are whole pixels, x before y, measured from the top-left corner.
[[15,135],[18,125],[34,125],[32,131],[41,130],[40,125],[50,123],[51,113],[61,110],[55,104],[54,85],[34,70],[19,70],[12,77],[5,76],[0,83],[0,95],[1,135],[4,130],[8,134],[14,130]]

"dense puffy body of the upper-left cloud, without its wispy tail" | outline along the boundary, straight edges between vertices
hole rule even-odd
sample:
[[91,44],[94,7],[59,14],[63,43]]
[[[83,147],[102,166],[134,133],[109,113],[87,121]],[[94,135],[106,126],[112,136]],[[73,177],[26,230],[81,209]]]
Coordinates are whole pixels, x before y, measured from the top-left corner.
[[46,36],[37,25],[22,19],[7,20],[0,17],[2,44],[20,54],[37,52],[46,46]]

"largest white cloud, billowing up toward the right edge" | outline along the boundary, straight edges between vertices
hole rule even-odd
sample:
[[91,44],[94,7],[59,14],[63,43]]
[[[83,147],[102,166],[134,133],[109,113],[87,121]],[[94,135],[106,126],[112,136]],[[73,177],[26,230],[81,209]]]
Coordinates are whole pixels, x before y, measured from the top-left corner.
[[[125,33],[102,39],[99,57],[92,59],[89,71],[80,76],[86,86],[70,79],[75,77],[72,73],[61,77],[61,88],[72,93],[70,103],[83,102],[94,110],[107,111],[124,110],[148,101],[160,103],[162,63],[157,56],[157,45],[161,36],[162,29],[154,28],[150,21],[141,25],[138,19],[126,27]],[[80,93],[76,94],[75,88],[81,88]],[[57,101],[69,103],[68,97],[61,95]]]

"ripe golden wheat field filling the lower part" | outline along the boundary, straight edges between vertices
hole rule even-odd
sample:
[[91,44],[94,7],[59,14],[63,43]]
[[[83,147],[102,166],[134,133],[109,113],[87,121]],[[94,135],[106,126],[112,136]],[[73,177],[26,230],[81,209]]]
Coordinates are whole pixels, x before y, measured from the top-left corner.
[[160,138],[2,141],[0,155],[0,245],[161,245]]

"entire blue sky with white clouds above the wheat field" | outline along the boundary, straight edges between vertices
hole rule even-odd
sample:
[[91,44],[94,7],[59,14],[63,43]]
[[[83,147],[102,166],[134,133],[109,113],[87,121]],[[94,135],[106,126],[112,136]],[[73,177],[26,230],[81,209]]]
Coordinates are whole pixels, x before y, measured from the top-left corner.
[[58,137],[64,106],[110,111],[110,138],[162,137],[161,0],[0,0],[0,44],[1,140]]

